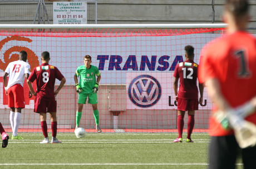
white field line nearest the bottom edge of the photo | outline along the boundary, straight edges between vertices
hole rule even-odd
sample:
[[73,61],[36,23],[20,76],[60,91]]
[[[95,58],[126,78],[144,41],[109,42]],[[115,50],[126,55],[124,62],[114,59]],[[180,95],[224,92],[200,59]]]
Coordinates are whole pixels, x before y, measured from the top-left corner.
[[[208,163],[0,163],[1,166],[206,166]],[[237,163],[243,165],[242,163]]]

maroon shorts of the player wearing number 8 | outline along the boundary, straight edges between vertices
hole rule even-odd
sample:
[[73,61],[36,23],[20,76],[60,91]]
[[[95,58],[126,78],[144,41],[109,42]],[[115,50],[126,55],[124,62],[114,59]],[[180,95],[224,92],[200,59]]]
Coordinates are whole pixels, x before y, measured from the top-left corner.
[[56,112],[57,101],[55,98],[36,96],[34,112]]

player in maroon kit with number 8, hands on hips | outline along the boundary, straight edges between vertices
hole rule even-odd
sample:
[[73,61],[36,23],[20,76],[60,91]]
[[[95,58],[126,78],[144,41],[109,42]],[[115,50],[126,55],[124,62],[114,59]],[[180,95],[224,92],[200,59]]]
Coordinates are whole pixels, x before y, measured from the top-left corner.
[[[51,143],[61,143],[56,138],[57,135],[57,101],[56,95],[60,92],[66,79],[61,74],[60,70],[55,66],[49,65],[50,53],[43,52],[41,55],[42,64],[33,69],[31,75],[28,77],[27,84],[32,95],[36,96],[34,111],[40,113],[41,127],[45,139],[41,144],[50,143],[48,139],[46,113],[50,112],[51,126],[52,126],[52,141]],[[57,90],[55,90],[55,79],[61,81]],[[32,87],[33,81],[36,80],[37,91],[35,92]]]

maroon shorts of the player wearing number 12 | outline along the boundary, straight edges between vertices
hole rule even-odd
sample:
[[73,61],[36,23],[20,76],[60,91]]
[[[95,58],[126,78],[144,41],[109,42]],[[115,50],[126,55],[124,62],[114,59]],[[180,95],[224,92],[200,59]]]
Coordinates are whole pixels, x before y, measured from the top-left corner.
[[187,111],[187,110],[198,110],[198,99],[180,99],[178,98],[177,110]]

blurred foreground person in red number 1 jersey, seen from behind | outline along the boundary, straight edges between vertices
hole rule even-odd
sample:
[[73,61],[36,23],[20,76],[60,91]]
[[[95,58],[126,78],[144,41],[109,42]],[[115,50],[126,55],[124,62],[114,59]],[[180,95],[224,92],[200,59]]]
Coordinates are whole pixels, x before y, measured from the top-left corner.
[[[199,68],[199,82],[206,85],[215,104],[209,121],[209,168],[235,168],[238,152],[242,152],[245,169],[255,168],[256,146],[244,146],[247,148],[242,150],[238,146],[239,142],[246,145],[250,141],[246,139],[255,136],[244,133],[244,140],[235,137],[247,121],[256,124],[256,40],[246,32],[248,1],[227,0],[223,19],[228,23],[227,35],[206,45]],[[228,126],[219,120],[220,111],[227,115]]]

